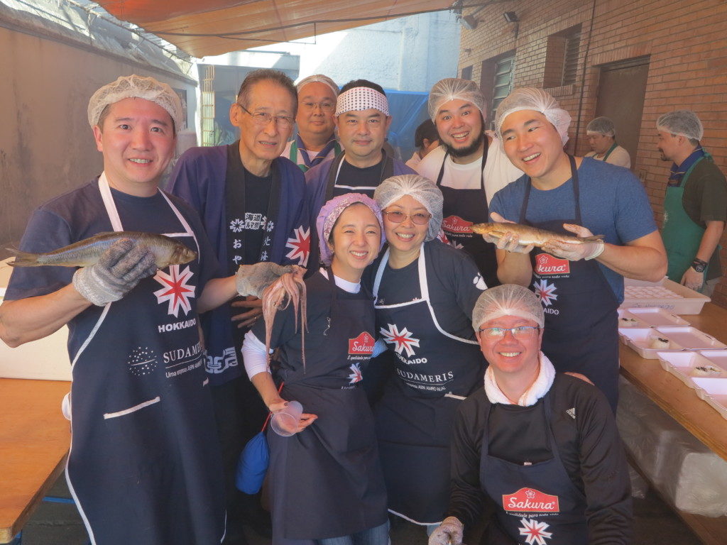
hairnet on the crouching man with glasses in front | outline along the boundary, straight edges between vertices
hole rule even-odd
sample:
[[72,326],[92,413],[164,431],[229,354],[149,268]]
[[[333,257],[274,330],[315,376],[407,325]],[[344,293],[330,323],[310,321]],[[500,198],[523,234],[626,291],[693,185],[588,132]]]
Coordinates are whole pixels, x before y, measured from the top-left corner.
[[472,327],[478,331],[486,321],[501,316],[533,320],[540,327],[545,324],[545,312],[537,295],[516,284],[502,284],[483,291],[472,311]]

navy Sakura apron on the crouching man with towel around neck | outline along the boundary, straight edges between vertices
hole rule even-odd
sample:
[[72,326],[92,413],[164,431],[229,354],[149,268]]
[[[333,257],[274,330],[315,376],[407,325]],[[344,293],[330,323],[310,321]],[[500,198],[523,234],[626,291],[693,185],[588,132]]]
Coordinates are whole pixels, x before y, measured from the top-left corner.
[[[528,466],[489,454],[489,405],[484,421],[480,487],[497,506],[489,545],[587,545],[585,495],[571,481],[550,429],[550,392],[529,408],[532,426],[547,429],[553,458]],[[545,413],[545,414],[543,414]]]

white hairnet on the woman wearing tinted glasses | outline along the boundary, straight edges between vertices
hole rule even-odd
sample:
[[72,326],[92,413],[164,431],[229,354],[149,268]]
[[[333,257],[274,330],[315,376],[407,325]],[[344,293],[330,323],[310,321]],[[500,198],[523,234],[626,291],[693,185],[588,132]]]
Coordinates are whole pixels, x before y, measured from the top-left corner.
[[439,187],[430,179],[419,174],[400,174],[385,179],[374,190],[374,200],[381,209],[390,206],[404,195],[410,195],[432,214],[427,227],[425,241],[433,241],[442,227],[442,205],[444,198]]

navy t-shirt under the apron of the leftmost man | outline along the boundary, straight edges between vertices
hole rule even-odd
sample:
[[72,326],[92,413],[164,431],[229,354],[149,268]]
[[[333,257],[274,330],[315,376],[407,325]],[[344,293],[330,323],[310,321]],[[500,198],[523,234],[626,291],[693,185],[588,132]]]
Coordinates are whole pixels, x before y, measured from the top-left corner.
[[[124,230],[145,233],[181,233],[184,230],[161,193],[152,197],[135,197],[111,189],[111,195]],[[192,304],[196,304],[205,283],[222,276],[222,271],[196,212],[180,198],[168,196],[190,225],[199,244],[200,276],[195,286],[196,297],[192,300]],[[44,253],[108,231],[113,231],[111,219],[103,206],[98,179],[93,179],[87,185],[34,210],[20,241],[20,250]],[[76,267],[16,267],[10,276],[5,299],[10,301],[50,294],[70,284],[75,272]],[[96,322],[94,317],[102,310],[103,307],[92,306],[68,323],[68,350],[71,354],[88,336]],[[109,350],[113,350],[113,339],[109,342]]]

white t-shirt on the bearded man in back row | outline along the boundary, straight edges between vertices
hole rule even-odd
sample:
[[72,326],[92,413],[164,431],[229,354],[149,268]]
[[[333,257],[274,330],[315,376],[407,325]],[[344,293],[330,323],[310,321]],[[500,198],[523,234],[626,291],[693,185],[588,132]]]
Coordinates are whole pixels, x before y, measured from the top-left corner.
[[[443,146],[428,153],[417,166],[417,172],[436,182],[445,153],[446,148]],[[447,157],[442,185],[455,189],[478,189],[480,187],[480,164],[481,158],[476,158],[471,163],[459,164],[452,161],[451,157]],[[510,159],[505,155],[505,150],[502,149],[502,142],[497,138],[493,138],[490,142],[483,173],[488,204],[492,195],[523,175],[523,171],[516,169],[513,163],[510,163]]]

